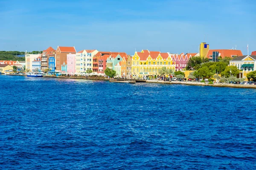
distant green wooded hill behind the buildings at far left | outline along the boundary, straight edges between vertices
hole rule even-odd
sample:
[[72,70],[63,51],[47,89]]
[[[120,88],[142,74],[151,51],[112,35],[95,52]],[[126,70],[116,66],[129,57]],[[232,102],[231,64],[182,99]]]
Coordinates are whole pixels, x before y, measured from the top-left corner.
[[[29,54],[41,54],[43,51],[32,51]],[[0,60],[25,61],[23,51],[0,51]]]

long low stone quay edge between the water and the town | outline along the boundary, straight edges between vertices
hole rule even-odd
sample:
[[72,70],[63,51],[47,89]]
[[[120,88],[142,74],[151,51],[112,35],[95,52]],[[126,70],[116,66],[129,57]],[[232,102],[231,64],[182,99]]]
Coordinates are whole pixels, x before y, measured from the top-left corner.
[[[6,74],[8,76],[26,76],[26,75],[17,75],[17,74]],[[119,83],[121,81],[131,81],[135,80],[136,82],[141,83],[159,83],[159,84],[169,84],[169,85],[192,85],[192,86],[211,86],[211,87],[219,87],[219,88],[255,88],[256,85],[240,85],[240,84],[226,84],[226,83],[215,83],[212,85],[208,85],[204,82],[180,82],[180,81],[163,81],[163,80],[136,80],[136,79],[108,79],[108,78],[89,78],[89,77],[52,77],[52,76],[43,76],[45,78],[60,78],[60,79],[88,79],[88,80],[102,80]]]

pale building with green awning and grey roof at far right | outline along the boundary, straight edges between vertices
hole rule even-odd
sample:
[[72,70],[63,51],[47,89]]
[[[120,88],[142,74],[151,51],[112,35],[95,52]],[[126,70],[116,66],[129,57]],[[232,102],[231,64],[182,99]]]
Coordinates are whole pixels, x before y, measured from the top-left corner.
[[256,56],[239,56],[230,61],[230,65],[236,66],[239,70],[239,78],[246,78],[251,71],[256,71]]

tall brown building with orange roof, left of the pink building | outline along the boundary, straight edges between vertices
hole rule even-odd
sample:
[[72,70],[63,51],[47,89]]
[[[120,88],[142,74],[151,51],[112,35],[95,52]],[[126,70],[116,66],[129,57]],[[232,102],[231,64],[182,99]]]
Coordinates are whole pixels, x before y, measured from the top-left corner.
[[75,47],[57,47],[55,52],[56,71],[61,71],[61,64],[67,61],[67,54],[76,54]]

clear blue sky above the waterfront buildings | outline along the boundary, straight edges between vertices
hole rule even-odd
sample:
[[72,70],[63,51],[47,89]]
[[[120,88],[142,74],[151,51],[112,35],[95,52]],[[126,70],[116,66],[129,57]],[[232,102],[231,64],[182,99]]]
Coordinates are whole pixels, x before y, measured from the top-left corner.
[[254,0],[0,0],[0,51],[256,51]]

